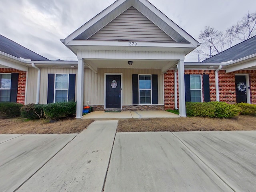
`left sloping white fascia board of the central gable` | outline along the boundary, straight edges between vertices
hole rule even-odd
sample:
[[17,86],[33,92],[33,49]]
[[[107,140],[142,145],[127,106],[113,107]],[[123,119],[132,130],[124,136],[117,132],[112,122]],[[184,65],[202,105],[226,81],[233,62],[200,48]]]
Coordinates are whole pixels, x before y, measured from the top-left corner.
[[64,40],[61,40],[62,43],[65,45],[68,44],[72,39],[76,38],[78,35],[80,35],[82,32],[90,28],[92,25],[94,25],[96,22],[98,22],[100,19],[102,19],[104,16],[112,12],[115,8],[120,6],[122,3],[126,2],[126,0],[117,0],[112,5],[110,5],[108,8],[100,12],[98,15],[96,15],[94,18],[86,22],[83,26],[78,28],[76,31],[74,31],[72,34],[70,34],[68,37],[66,37]]

